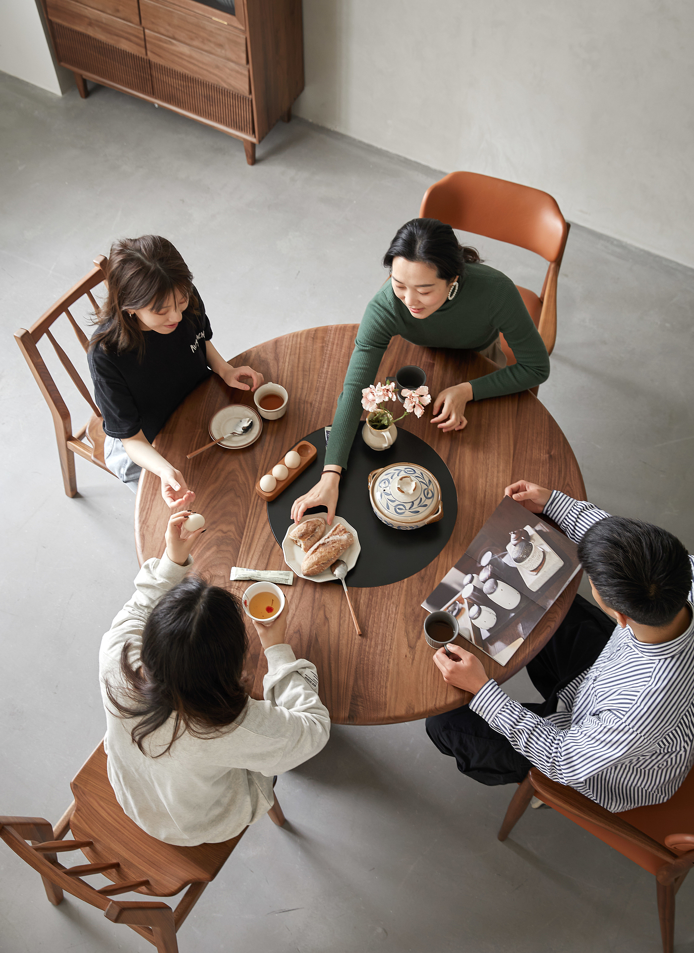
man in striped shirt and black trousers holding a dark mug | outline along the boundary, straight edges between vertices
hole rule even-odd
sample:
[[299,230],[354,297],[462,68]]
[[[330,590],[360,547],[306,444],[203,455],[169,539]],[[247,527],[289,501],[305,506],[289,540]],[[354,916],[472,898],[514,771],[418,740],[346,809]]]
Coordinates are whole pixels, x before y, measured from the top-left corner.
[[[581,656],[580,635],[560,630],[550,639],[528,665],[545,706],[509,699],[458,645],[449,646],[455,661],[439,649],[434,661],[443,679],[474,698],[427,719],[429,737],[484,783],[521,781],[535,765],[609,811],[667,801],[694,763],[694,559],[666,530],[610,517],[557,490],[520,480],[505,492],[579,543],[593,596],[617,627],[568,683],[563,676]],[[533,677],[548,670],[559,683],[554,693]]]

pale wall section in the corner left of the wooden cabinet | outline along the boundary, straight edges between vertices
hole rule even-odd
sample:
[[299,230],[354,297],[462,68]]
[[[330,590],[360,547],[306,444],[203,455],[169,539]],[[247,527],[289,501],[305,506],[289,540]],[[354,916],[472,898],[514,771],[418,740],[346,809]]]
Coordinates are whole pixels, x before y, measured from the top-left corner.
[[60,96],[74,85],[58,66],[36,0],[1,0],[0,70]]

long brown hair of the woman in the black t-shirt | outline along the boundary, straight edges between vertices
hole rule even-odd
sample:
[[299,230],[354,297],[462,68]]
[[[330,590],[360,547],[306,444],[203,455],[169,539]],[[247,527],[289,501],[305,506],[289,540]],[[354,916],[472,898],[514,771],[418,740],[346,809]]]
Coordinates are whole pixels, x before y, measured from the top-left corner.
[[109,296],[96,312],[94,323],[99,331],[91,347],[111,354],[136,351],[141,360],[145,336],[132,312],[139,308],[158,311],[172,294],[185,294],[189,308],[197,309],[193,294],[193,275],[168,238],[141,235],[113,242],[107,265]]

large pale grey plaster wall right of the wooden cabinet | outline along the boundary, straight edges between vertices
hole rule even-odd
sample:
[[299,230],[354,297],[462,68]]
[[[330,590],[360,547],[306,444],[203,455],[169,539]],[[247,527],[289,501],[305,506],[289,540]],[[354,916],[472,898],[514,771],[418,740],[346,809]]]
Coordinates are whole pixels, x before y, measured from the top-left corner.
[[297,115],[436,169],[543,189],[572,221],[694,265],[691,0],[303,11]]

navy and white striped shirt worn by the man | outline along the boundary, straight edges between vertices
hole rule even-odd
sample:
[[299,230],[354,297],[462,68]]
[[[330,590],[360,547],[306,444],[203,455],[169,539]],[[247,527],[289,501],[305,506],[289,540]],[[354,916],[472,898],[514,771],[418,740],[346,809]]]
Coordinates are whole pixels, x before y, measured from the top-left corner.
[[[575,542],[609,515],[557,490],[543,513]],[[693,601],[694,586],[694,613]],[[667,801],[680,787],[694,763],[693,700],[694,617],[659,645],[618,625],[595,663],[562,689],[556,714],[527,711],[493,679],[470,708],[548,778],[616,812]]]

